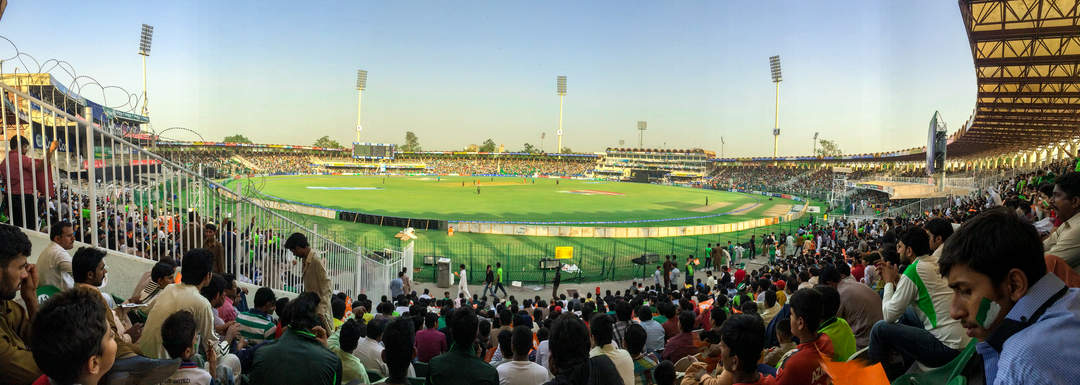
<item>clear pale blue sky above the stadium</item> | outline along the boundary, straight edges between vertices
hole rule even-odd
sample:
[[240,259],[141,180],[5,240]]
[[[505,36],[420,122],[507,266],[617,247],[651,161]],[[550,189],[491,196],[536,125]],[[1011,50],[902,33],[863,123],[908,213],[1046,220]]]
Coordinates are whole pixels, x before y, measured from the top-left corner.
[[924,145],[934,110],[951,133],[975,102],[960,12],[941,0],[38,0],[10,2],[0,35],[137,93],[143,23],[154,26],[154,127],[216,141],[352,142],[359,68],[369,74],[364,140],[400,144],[413,131],[424,149],[491,137],[516,150],[546,132],[553,150],[566,75],[573,150],[636,145],[646,120],[649,147],[719,152],[723,136],[727,156],[769,155],[774,54],[781,155],[809,154],[814,132],[845,152]]

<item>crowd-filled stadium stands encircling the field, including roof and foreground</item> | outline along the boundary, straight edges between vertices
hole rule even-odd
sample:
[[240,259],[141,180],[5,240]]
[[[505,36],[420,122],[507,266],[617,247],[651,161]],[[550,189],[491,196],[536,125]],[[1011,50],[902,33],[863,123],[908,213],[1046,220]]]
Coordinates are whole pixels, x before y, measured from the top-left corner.
[[[927,148],[361,159],[166,141],[49,74],[3,74],[0,384],[1077,383],[1080,104],[1062,66],[1080,29],[1076,3],[1047,3],[959,2],[980,99],[932,175]],[[1039,49],[1002,48],[1017,41]],[[539,260],[552,276],[523,283],[514,249],[467,266],[415,252],[411,228],[365,248],[228,183],[345,174],[646,182],[822,212],[635,252],[633,280]]]

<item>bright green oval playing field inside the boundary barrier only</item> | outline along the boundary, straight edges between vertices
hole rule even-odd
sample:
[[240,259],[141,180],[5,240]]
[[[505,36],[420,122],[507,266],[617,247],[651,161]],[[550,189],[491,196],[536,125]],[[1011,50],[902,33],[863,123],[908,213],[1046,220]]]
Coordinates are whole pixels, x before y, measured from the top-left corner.
[[[604,226],[721,224],[796,204],[739,192],[638,183],[463,176],[269,176],[265,197],[368,214],[446,221],[618,222]],[[705,205],[706,198],[708,205]],[[772,214],[777,215],[773,210]],[[786,213],[786,211],[783,211]],[[781,213],[782,214],[782,213]],[[704,218],[687,218],[700,217]],[[683,218],[675,221],[665,221]]]

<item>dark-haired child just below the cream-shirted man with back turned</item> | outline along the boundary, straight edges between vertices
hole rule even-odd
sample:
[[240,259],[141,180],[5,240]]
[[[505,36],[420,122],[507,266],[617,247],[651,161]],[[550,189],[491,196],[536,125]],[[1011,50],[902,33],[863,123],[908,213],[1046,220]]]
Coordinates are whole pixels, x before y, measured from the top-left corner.
[[180,368],[163,385],[210,385],[217,373],[215,349],[206,349],[206,368],[195,362],[195,318],[188,310],[174,313],[161,327],[161,344],[170,357],[180,359]]

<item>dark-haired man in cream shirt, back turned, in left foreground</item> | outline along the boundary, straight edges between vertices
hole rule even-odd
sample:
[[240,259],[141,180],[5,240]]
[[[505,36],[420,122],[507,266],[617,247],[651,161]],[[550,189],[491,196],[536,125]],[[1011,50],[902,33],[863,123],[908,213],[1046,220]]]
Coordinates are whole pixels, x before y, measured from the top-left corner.
[[161,326],[168,316],[179,310],[188,310],[195,319],[202,341],[199,346],[214,346],[217,334],[214,333],[214,307],[210,301],[199,293],[199,290],[210,283],[213,266],[213,255],[205,249],[191,249],[184,255],[184,266],[180,267],[180,283],[170,284],[154,300],[150,308],[138,346],[143,355],[151,358],[165,358],[168,353],[161,345]]

